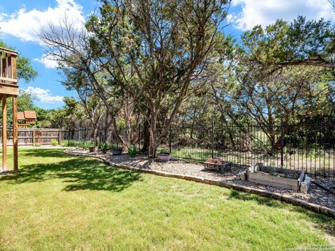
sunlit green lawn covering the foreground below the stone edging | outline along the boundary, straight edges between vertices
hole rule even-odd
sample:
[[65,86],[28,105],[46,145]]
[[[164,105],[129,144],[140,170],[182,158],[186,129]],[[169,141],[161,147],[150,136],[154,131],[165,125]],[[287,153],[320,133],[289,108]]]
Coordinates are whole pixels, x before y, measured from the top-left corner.
[[335,220],[54,149],[0,176],[0,250],[284,250],[334,244]]

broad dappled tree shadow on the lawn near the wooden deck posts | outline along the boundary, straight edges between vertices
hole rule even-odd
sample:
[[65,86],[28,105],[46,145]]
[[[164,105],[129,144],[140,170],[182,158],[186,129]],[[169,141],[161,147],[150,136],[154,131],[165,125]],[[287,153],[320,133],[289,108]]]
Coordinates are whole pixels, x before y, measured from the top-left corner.
[[61,179],[66,183],[65,191],[110,190],[119,192],[128,188],[133,182],[140,181],[141,176],[139,173],[110,167],[98,160],[88,158],[73,158],[52,164],[23,165],[17,174],[0,176],[0,182],[8,181],[15,184],[51,179]]

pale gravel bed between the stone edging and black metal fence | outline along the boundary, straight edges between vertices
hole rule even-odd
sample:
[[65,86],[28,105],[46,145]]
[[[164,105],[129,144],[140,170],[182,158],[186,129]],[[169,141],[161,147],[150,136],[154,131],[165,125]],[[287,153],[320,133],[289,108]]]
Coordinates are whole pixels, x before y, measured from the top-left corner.
[[[107,161],[114,162],[116,164],[131,165],[133,167],[142,169],[152,169],[156,171],[170,172],[172,174],[184,174],[190,176],[198,176],[202,178],[208,178],[214,181],[225,181],[228,183],[234,183],[237,185],[244,185],[248,188],[258,188],[262,190],[267,190],[271,192],[279,192],[281,195],[290,195],[291,197],[297,199],[303,199],[305,201],[318,204],[320,206],[326,206],[335,210],[335,195],[331,192],[327,192],[322,188],[318,187],[314,183],[311,183],[311,187],[307,194],[300,192],[295,192],[293,190],[274,188],[270,185],[258,185],[248,181],[241,181],[239,178],[239,172],[244,171],[243,168],[232,167],[232,172],[226,172],[221,174],[216,171],[204,170],[204,165],[195,162],[186,162],[183,160],[170,160],[168,163],[158,162],[156,160],[148,159],[147,155],[138,155],[135,158],[130,158],[127,154],[122,154],[119,156],[113,156],[112,153],[107,152],[106,154],[100,151],[89,153],[88,151],[81,150],[68,150],[66,151],[70,154],[87,155],[91,157],[103,157]],[[335,192],[335,182],[327,180],[317,180],[318,184],[328,188],[329,190],[334,190]]]

